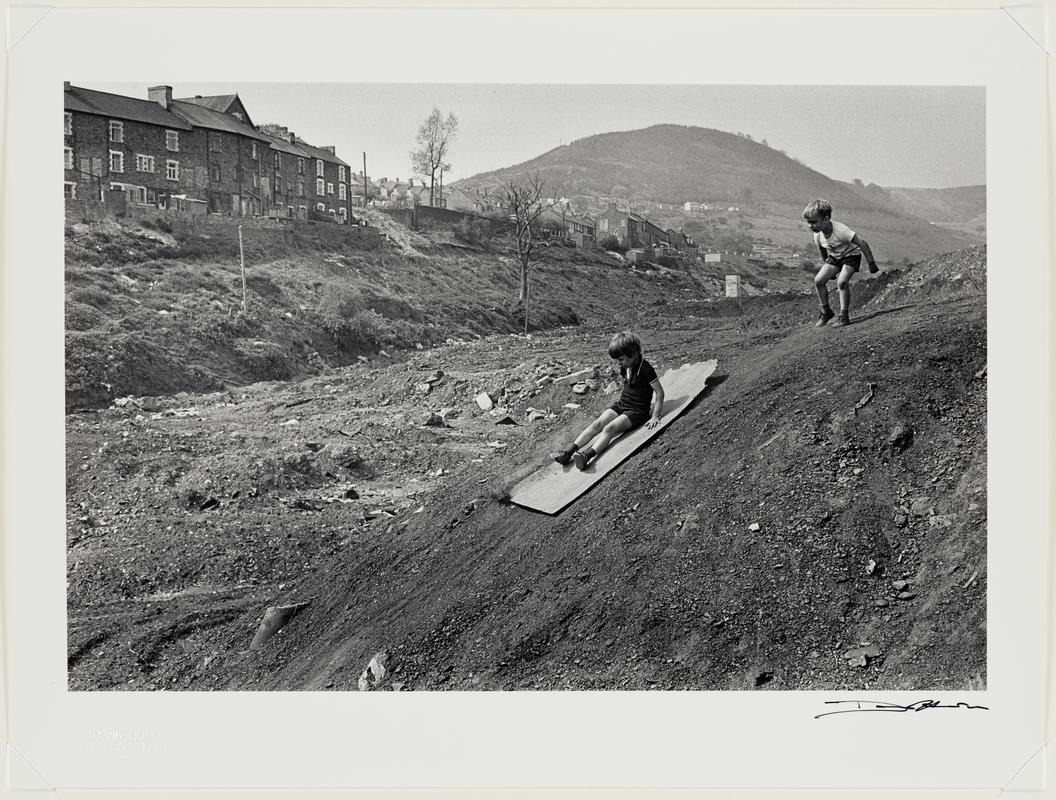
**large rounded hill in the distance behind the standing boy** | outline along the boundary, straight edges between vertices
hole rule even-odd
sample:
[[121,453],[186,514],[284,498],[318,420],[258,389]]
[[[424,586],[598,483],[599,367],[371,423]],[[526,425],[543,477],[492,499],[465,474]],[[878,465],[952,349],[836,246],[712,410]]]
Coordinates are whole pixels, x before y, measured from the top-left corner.
[[[929,224],[934,221],[920,204],[939,204],[939,196],[834,180],[763,142],[709,128],[658,125],[588,136],[455,186],[494,189],[502,182],[534,173],[544,177],[553,194],[568,197],[616,196],[675,209],[686,201],[736,206],[740,218],[757,228],[757,239],[772,237],[796,247],[809,244],[799,218],[804,205],[825,197],[835,207],[837,218],[863,233],[869,231],[870,244],[879,245],[878,256],[887,261],[914,260],[982,241],[978,231]],[[953,197],[949,193],[955,190],[941,191]],[[664,217],[676,226],[684,222],[671,214]]]

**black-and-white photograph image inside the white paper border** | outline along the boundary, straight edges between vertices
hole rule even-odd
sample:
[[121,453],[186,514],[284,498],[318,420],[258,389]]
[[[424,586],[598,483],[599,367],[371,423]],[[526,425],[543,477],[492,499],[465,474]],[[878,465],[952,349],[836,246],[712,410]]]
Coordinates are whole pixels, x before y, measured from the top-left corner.
[[63,98],[71,689],[985,688],[982,88]]

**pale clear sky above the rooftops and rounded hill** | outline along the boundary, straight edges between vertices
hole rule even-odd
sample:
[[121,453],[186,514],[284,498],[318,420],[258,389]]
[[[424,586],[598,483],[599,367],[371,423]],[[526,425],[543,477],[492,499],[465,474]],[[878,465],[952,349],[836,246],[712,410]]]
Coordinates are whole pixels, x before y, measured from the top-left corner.
[[[146,83],[74,85],[147,97]],[[372,178],[412,176],[418,126],[458,117],[445,183],[534,158],[573,139],[652,125],[766,139],[840,180],[886,187],[986,182],[985,92],[977,87],[710,87],[428,83],[174,83],[173,97],[238,93],[257,123],[334,145]]]

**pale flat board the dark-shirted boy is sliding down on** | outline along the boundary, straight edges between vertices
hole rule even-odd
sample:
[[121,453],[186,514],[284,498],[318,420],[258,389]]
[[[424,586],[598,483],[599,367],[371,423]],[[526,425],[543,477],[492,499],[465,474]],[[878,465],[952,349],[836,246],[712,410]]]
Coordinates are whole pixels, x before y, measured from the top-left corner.
[[[611,446],[596,458],[583,472],[574,464],[562,466],[552,459],[527,478],[514,483],[510,489],[510,500],[526,509],[534,509],[546,514],[557,514],[576,500],[590,487],[610,473],[631,456],[639,447],[663,431],[667,425],[704,391],[708,377],[715,372],[718,361],[700,361],[685,364],[677,369],[668,369],[660,376],[664,391],[663,416],[656,427],[636,427],[616,439]],[[600,409],[598,413],[601,413]],[[587,426],[592,417],[584,416],[576,431],[569,433],[569,441]]]

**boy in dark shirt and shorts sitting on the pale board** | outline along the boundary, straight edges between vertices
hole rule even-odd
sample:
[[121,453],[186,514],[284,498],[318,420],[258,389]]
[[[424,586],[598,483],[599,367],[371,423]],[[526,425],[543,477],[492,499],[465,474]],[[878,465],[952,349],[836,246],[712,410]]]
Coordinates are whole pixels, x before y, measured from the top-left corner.
[[[620,377],[623,378],[620,399],[587,425],[583,433],[576,437],[576,441],[553,456],[553,460],[559,464],[574,461],[578,470],[585,470],[590,460],[603,453],[620,434],[642,424],[646,427],[656,427],[660,424],[663,386],[660,385],[660,379],[653,365],[642,358],[641,340],[634,334],[623,330],[612,337],[612,341],[608,344],[608,355],[620,364]],[[590,446],[584,447],[591,441]]]

